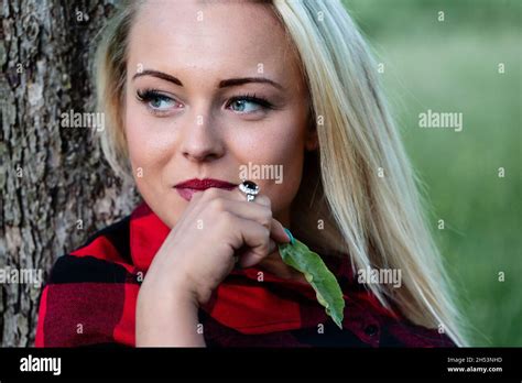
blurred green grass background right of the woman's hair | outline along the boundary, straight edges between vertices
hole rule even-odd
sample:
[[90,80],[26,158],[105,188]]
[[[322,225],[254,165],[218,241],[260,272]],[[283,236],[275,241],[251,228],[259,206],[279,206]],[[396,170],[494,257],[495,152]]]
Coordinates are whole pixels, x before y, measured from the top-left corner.
[[[522,346],[522,1],[344,3],[384,64],[471,346]],[[463,112],[463,131],[418,128],[427,109]]]

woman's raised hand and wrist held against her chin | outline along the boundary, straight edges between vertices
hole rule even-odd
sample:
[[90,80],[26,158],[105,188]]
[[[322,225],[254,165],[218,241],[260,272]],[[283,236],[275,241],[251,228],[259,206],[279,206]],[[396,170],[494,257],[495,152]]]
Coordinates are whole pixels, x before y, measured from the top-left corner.
[[250,267],[290,242],[270,199],[239,189],[196,193],[154,256],[140,288],[137,346],[205,346],[197,308],[239,266]]

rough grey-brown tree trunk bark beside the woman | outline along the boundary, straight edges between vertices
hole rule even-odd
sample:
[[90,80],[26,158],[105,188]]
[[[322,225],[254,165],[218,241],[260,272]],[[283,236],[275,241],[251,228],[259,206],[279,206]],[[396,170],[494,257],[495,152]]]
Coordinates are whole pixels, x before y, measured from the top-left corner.
[[[127,215],[131,188],[113,178],[91,129],[61,127],[89,112],[96,36],[110,0],[0,0],[0,270],[43,270]],[[0,283],[0,346],[34,342],[41,288]]]

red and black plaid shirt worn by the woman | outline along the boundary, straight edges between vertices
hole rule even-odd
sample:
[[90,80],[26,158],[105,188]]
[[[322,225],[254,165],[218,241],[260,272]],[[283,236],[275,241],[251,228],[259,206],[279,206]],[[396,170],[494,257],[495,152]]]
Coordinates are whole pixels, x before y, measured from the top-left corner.
[[[42,292],[36,347],[133,347],[140,283],[168,231],[143,204],[58,258]],[[199,309],[207,346],[455,346],[445,335],[385,310],[355,281],[347,256],[323,259],[345,294],[342,330],[326,316],[309,285],[250,267],[233,270]]]

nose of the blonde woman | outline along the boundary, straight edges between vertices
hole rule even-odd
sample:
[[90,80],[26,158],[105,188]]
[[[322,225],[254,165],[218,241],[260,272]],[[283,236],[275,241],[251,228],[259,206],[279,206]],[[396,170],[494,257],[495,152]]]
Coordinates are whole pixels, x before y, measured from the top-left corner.
[[[192,113],[191,113],[192,114]],[[219,158],[225,153],[221,132],[210,112],[192,114],[192,122],[184,124],[181,150],[191,162]]]

